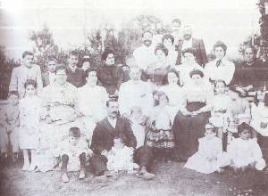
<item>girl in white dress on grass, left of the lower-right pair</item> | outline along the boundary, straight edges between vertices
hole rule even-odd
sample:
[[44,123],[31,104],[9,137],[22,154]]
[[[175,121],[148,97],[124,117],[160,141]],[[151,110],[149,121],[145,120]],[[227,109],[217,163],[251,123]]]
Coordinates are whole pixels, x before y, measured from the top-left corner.
[[205,125],[205,137],[198,139],[198,142],[198,151],[188,159],[184,167],[210,174],[222,172],[222,167],[230,164],[227,153],[222,151],[222,140],[216,136],[216,128],[212,124]]

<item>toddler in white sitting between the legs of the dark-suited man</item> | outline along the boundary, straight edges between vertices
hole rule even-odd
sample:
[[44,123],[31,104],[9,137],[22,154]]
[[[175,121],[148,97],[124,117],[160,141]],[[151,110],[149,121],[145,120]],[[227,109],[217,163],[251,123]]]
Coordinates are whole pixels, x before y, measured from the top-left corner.
[[113,139],[112,150],[105,155],[108,159],[107,169],[112,172],[128,171],[133,172],[138,169],[138,165],[133,162],[134,150],[125,145],[127,140],[125,135],[119,135]]

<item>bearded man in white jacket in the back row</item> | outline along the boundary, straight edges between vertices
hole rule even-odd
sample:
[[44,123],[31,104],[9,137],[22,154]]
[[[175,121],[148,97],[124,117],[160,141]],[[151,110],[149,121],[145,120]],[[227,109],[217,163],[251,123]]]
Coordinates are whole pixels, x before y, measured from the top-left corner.
[[155,47],[152,45],[153,34],[145,31],[142,34],[142,43],[140,47],[134,50],[133,56],[140,69],[147,69],[147,66],[156,61]]

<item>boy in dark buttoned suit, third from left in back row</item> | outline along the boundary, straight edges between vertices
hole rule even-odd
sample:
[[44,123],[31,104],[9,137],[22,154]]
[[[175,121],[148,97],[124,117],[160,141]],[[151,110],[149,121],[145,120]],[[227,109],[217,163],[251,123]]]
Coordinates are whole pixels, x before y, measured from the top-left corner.
[[68,59],[67,82],[70,82],[71,85],[76,87],[85,85],[84,70],[77,67],[78,61],[79,54],[75,51],[71,51]]

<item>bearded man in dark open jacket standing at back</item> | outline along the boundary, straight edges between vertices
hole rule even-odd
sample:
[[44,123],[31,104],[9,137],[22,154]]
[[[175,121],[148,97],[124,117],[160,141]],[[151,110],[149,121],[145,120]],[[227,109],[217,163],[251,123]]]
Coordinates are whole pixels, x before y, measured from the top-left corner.
[[179,40],[178,45],[178,57],[176,65],[181,64],[181,51],[186,48],[195,48],[197,50],[196,60],[199,65],[202,67],[205,66],[207,61],[207,56],[205,53],[205,45],[203,39],[197,39],[192,37],[193,30],[190,26],[185,26],[182,30],[183,38]]

